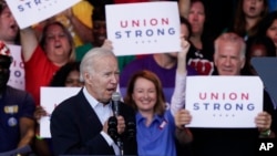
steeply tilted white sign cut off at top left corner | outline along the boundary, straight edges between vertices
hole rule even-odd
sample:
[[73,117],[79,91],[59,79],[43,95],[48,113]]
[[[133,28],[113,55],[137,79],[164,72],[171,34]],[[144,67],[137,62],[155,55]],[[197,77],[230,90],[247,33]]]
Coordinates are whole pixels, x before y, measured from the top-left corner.
[[62,12],[80,0],[7,0],[20,29]]

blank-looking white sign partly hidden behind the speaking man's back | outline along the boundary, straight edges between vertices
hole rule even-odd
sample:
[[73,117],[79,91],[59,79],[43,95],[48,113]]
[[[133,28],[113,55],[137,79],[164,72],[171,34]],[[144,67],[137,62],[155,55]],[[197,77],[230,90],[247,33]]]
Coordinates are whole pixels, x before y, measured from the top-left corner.
[[78,94],[81,87],[41,87],[41,106],[49,114],[40,119],[40,137],[50,138],[50,117],[55,108],[64,100]]

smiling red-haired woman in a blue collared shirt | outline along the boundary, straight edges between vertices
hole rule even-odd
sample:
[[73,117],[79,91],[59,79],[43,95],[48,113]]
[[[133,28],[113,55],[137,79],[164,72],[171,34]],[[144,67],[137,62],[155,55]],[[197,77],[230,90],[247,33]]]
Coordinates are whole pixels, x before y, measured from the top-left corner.
[[[183,51],[186,53],[186,49]],[[187,128],[176,128],[174,114],[177,110],[166,110],[161,81],[153,72],[143,70],[131,77],[124,102],[136,111],[140,156],[176,156],[175,138],[183,144],[192,141]]]

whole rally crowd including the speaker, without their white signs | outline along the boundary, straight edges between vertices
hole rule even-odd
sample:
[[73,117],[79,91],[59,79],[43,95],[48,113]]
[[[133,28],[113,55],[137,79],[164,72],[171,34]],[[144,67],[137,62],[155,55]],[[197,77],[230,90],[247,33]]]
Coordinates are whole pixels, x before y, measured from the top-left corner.
[[[0,0],[0,155],[27,147],[21,154],[254,156],[260,141],[277,139],[276,102],[266,89],[253,128],[186,126],[194,119],[186,110],[187,76],[257,76],[250,60],[277,56],[273,2],[228,0],[226,20],[213,19],[222,8],[213,10],[208,0],[171,0],[179,9],[179,51],[116,56],[105,4],[153,1],[160,0],[81,0],[20,29]],[[8,85],[9,45],[21,46],[24,90]],[[47,112],[42,86],[81,90]],[[51,138],[41,138],[40,119],[48,115]]]

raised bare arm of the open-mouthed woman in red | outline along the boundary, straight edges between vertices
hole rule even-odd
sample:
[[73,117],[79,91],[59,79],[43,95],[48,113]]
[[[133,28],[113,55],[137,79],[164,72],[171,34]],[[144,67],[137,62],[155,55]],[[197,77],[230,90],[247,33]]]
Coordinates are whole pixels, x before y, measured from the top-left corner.
[[39,40],[37,39],[32,28],[20,30],[20,42],[22,46],[23,61],[28,62],[39,44]]

